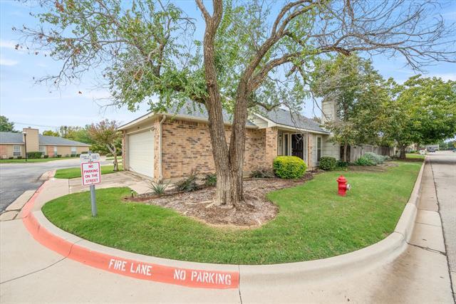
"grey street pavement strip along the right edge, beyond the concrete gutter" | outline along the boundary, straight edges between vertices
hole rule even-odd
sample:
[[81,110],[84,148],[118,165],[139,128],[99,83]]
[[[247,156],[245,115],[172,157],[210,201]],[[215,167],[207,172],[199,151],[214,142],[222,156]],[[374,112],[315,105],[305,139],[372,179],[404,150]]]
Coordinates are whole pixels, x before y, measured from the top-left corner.
[[431,153],[429,159],[442,218],[452,291],[456,293],[456,153]]

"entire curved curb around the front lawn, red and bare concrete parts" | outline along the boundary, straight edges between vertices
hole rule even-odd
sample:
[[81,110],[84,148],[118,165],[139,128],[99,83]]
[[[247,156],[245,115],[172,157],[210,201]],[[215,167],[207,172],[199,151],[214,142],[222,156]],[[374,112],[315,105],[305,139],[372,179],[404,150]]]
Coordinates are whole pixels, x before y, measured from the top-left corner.
[[101,246],[59,229],[41,211],[31,212],[36,196],[48,182],[44,182],[24,206],[23,221],[33,238],[43,246],[74,261],[123,276],[192,288],[217,289],[240,288],[240,282],[249,288],[310,283],[343,277],[348,271],[367,271],[393,261],[403,253],[415,226],[424,166],[425,162],[408,204],[390,236],[358,251],[315,261],[259,266],[222,265],[155,258]]

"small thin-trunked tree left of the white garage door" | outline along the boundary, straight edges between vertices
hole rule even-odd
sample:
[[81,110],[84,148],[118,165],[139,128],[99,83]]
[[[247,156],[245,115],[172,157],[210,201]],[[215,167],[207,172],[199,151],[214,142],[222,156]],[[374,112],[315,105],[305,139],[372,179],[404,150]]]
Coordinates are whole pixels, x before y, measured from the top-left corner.
[[[88,135],[98,147],[105,147],[114,157],[114,171],[118,171],[118,146],[122,142],[122,133],[117,130],[118,122],[115,120],[102,120],[88,128]],[[101,149],[101,148],[100,148]]]

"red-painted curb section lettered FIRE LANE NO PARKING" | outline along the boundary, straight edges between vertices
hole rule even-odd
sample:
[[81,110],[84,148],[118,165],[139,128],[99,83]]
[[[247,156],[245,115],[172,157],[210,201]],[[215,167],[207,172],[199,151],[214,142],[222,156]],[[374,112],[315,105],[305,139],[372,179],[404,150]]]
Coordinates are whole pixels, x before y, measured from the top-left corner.
[[33,239],[36,239],[36,241],[52,251],[88,266],[141,280],[183,285],[192,288],[227,289],[239,286],[238,271],[203,271],[134,261],[98,251],[91,251],[52,234],[39,224],[31,212],[36,197],[43,190],[46,183],[44,182],[31,196],[31,199],[27,201],[24,209],[22,209],[22,221],[28,232],[33,236]]

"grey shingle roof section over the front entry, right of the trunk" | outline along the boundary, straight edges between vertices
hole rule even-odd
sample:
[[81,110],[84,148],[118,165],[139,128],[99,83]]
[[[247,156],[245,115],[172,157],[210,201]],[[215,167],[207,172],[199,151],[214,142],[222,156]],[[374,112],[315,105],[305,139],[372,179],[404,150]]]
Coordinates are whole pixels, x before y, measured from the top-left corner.
[[264,114],[266,118],[280,125],[290,127],[299,127],[300,129],[313,130],[318,132],[329,133],[320,127],[320,124],[315,120],[311,120],[301,114],[291,113],[289,110],[275,109]]

